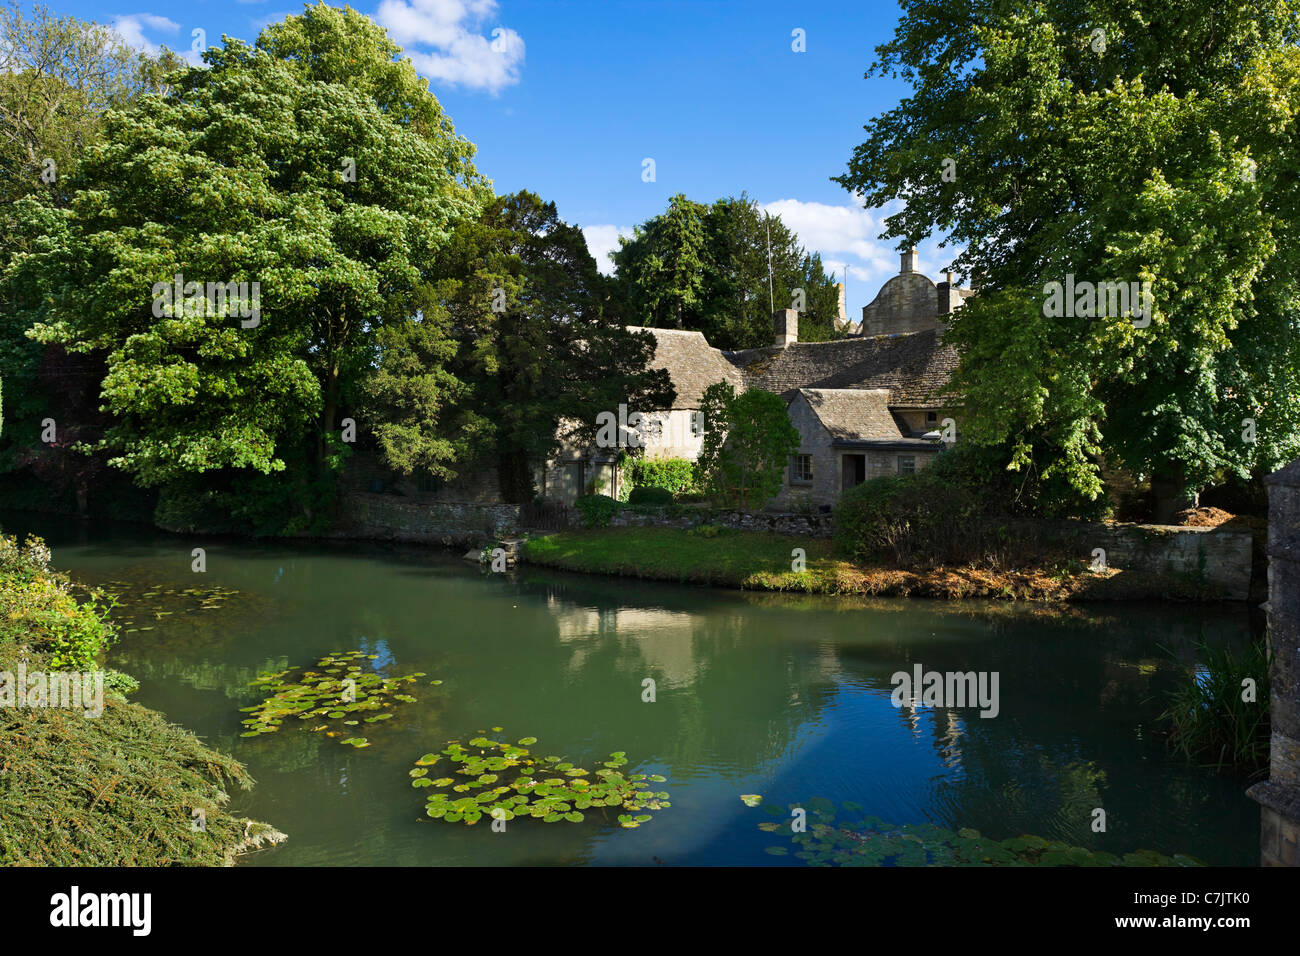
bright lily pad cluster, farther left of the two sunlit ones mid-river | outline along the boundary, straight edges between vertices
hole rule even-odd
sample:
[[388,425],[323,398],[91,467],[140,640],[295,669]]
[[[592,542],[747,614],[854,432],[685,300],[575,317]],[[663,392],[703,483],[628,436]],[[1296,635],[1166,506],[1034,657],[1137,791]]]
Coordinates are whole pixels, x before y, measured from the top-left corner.
[[[342,721],[343,727],[378,724],[394,717],[389,708],[394,702],[413,704],[415,697],[399,691],[425,674],[402,678],[384,678],[363,670],[361,661],[373,661],[377,654],[364,650],[346,650],[326,654],[316,663],[316,670],[303,671],[296,680],[286,680],[292,670],[264,674],[252,682],[254,687],[270,691],[261,704],[242,708],[250,714],[243,724],[248,727],[242,737],[274,734],[286,718],[311,721],[312,731],[325,731],[326,736],[343,736],[347,731],[329,730],[330,721]],[[434,680],[441,684],[441,680]],[[341,743],[350,747],[369,747],[363,736],[347,736]]]

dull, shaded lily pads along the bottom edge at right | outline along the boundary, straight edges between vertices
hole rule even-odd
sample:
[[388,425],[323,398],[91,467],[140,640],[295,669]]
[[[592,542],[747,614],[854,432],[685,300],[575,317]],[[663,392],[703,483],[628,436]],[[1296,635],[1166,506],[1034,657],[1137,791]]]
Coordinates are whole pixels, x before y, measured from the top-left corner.
[[[759,823],[766,832],[786,832],[797,847],[794,856],[810,866],[1202,866],[1184,856],[1164,856],[1149,849],[1117,856],[1075,847],[1041,836],[1013,836],[994,840],[978,830],[945,830],[931,823],[894,826],[864,816],[854,803],[844,809],[858,812],[854,818],[836,819],[829,801],[810,801],[803,832],[789,822]],[[785,810],[768,806],[768,813]],[[785,856],[783,845],[767,847],[774,856]]]

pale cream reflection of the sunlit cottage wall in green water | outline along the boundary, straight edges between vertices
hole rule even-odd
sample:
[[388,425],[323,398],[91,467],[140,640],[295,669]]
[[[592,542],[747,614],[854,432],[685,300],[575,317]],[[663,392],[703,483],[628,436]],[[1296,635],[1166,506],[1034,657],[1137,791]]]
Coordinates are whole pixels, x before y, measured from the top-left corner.
[[[634,645],[641,658],[637,663],[647,671],[641,676],[653,676],[660,688],[688,687],[699,675],[696,632],[705,624],[702,614],[660,607],[575,607],[554,596],[546,605],[562,641],[614,636],[625,648]],[[581,670],[586,656],[588,648],[575,646],[568,670]]]

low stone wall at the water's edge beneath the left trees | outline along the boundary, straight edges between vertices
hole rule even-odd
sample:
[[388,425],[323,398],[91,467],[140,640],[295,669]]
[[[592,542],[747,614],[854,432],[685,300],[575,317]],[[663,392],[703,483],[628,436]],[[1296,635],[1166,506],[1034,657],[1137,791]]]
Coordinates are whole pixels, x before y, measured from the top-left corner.
[[335,537],[459,546],[519,528],[519,505],[481,505],[350,492],[341,496]]

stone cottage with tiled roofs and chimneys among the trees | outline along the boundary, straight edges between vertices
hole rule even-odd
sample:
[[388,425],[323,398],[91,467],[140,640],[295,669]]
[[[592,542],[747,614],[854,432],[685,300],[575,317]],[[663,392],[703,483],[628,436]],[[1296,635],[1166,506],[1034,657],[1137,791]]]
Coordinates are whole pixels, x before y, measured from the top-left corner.
[[[833,342],[800,342],[794,310],[774,315],[772,345],[737,352],[714,349],[699,332],[647,329],[656,342],[651,364],[668,371],[677,399],[634,423],[644,454],[697,458],[701,395],[725,381],[779,394],[800,432],[777,506],[831,506],[868,477],[926,467],[957,437],[959,399],[948,392],[957,352],[942,336],[946,316],[972,293],[952,273],[936,284],[915,267],[916,251],[902,254],[900,273],[863,307],[861,325],[845,324],[850,334]],[[618,451],[566,442],[538,470],[538,489],[566,502],[586,490],[618,496]]]

